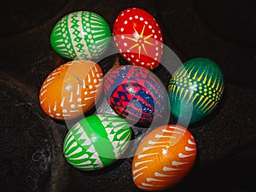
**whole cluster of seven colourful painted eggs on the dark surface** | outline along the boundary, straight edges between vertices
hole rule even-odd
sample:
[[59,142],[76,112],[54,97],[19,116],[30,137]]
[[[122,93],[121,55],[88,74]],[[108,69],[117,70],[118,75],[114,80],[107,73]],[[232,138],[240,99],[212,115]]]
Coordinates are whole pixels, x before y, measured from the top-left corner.
[[[138,8],[123,10],[113,24],[113,43],[129,65],[114,67],[104,76],[96,60],[108,49],[110,36],[107,21],[90,11],[64,16],[50,35],[55,52],[72,61],[44,80],[39,92],[44,113],[57,120],[81,118],[102,92],[116,113],[79,119],[67,132],[63,154],[71,166],[83,171],[119,160],[131,141],[131,123],[161,121],[166,108],[174,119],[197,122],[212,112],[224,90],[220,68],[206,58],[183,63],[166,90],[151,72],[162,58],[163,34],[154,17]],[[195,157],[195,138],[189,130],[161,125],[137,146],[133,181],[146,191],[170,188],[189,173]]]

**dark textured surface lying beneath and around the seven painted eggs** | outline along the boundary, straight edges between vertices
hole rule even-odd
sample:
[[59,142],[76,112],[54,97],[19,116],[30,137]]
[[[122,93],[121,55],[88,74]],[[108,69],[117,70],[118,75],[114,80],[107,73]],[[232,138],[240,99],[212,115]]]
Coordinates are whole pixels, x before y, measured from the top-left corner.
[[[224,73],[224,97],[218,108],[201,123],[188,127],[198,148],[195,166],[170,191],[255,191],[253,0],[1,1],[1,191],[140,191],[131,178],[132,157],[97,172],[80,172],[69,166],[62,155],[67,125],[46,116],[38,102],[44,79],[66,62],[49,44],[55,23],[73,11],[90,10],[102,15],[112,28],[119,12],[130,7],[154,16],[166,46],[181,61],[207,57]],[[99,62],[104,73],[116,56]],[[154,73],[167,86],[170,73],[161,66]],[[90,113],[95,113],[94,108]],[[146,131],[132,129],[135,136]]]

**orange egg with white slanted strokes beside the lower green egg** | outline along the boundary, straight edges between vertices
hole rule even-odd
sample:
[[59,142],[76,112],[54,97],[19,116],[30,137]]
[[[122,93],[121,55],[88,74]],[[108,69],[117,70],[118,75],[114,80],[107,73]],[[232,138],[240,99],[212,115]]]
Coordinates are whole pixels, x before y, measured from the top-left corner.
[[183,180],[195,164],[196,143],[179,125],[163,125],[143,138],[133,157],[134,183],[145,191],[169,189]]

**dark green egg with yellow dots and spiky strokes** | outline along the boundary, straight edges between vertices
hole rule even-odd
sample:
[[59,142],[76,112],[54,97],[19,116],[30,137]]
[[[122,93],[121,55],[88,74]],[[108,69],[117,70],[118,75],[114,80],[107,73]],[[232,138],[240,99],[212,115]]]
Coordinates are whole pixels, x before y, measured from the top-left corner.
[[224,75],[218,64],[207,58],[183,63],[168,87],[171,113],[180,123],[204,119],[218,105],[224,92]]

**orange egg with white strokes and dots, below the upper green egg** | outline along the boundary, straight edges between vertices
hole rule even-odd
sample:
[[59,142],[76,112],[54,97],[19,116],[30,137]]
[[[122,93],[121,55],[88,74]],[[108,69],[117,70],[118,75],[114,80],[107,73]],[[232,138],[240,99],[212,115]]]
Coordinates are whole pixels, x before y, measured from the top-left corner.
[[102,67],[96,62],[69,61],[49,74],[39,93],[44,113],[74,119],[94,106],[102,90]]

